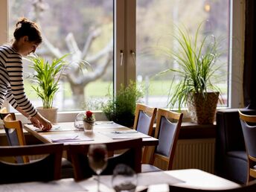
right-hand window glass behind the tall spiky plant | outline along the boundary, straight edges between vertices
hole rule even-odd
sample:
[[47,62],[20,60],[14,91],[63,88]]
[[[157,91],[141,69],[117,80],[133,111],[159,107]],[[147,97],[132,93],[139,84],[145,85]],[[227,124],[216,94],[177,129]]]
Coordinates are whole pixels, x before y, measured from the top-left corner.
[[[176,51],[174,41],[176,27],[196,33],[199,24],[199,39],[205,33],[212,33],[220,42],[223,54],[216,65],[221,67],[217,74],[222,79],[213,81],[220,88],[224,103],[228,104],[228,42],[229,42],[229,0],[137,0],[136,7],[136,75],[147,90],[144,102],[150,106],[168,108],[168,95],[174,73],[156,75],[168,68],[176,68],[175,61],[159,54],[159,47]],[[220,75],[219,75],[220,74]],[[179,83],[175,77],[174,83]],[[176,107],[176,106],[175,106]]]

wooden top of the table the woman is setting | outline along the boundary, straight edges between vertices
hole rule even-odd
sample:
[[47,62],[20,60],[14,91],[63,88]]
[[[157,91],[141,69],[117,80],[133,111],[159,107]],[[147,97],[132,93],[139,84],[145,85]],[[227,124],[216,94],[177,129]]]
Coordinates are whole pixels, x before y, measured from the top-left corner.
[[32,124],[25,124],[24,129],[44,143],[95,144],[118,141],[124,138],[142,138],[144,146],[156,146],[159,143],[157,138],[135,132],[133,129],[115,124],[112,121],[97,121],[93,131],[89,132],[75,129],[73,122],[54,124],[54,127],[48,132],[40,132]]

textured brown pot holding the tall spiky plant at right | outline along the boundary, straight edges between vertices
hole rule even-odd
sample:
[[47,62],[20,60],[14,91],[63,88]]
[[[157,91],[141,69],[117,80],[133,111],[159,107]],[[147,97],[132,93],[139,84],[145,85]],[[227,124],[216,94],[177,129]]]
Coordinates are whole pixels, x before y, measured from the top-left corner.
[[213,124],[216,115],[219,92],[191,94],[188,96],[188,112],[191,120],[197,124]]

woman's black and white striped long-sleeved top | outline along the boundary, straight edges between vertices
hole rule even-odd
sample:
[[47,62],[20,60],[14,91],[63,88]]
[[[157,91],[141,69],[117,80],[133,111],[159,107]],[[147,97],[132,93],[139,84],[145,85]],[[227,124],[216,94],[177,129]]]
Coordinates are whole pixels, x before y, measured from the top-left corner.
[[0,46],[0,106],[5,97],[14,109],[19,106],[34,116],[37,112],[25,95],[22,70],[22,56],[10,45]]

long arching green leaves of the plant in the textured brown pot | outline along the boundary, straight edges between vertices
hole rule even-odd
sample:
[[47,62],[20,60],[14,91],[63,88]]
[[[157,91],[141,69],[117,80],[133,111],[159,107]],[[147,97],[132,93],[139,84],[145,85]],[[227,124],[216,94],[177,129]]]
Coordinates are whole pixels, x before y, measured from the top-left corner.
[[179,110],[187,103],[190,95],[197,94],[205,98],[206,92],[220,92],[220,89],[211,82],[215,72],[220,68],[220,65],[216,65],[221,54],[220,47],[212,35],[205,35],[199,41],[201,27],[202,23],[197,28],[194,38],[187,29],[177,28],[178,35],[173,36],[179,47],[177,51],[170,48],[162,49],[167,57],[171,57],[178,64],[178,68],[168,68],[160,74],[173,71],[180,77],[181,80],[172,90],[173,94],[170,95],[168,103],[168,106],[173,107],[178,102]]

